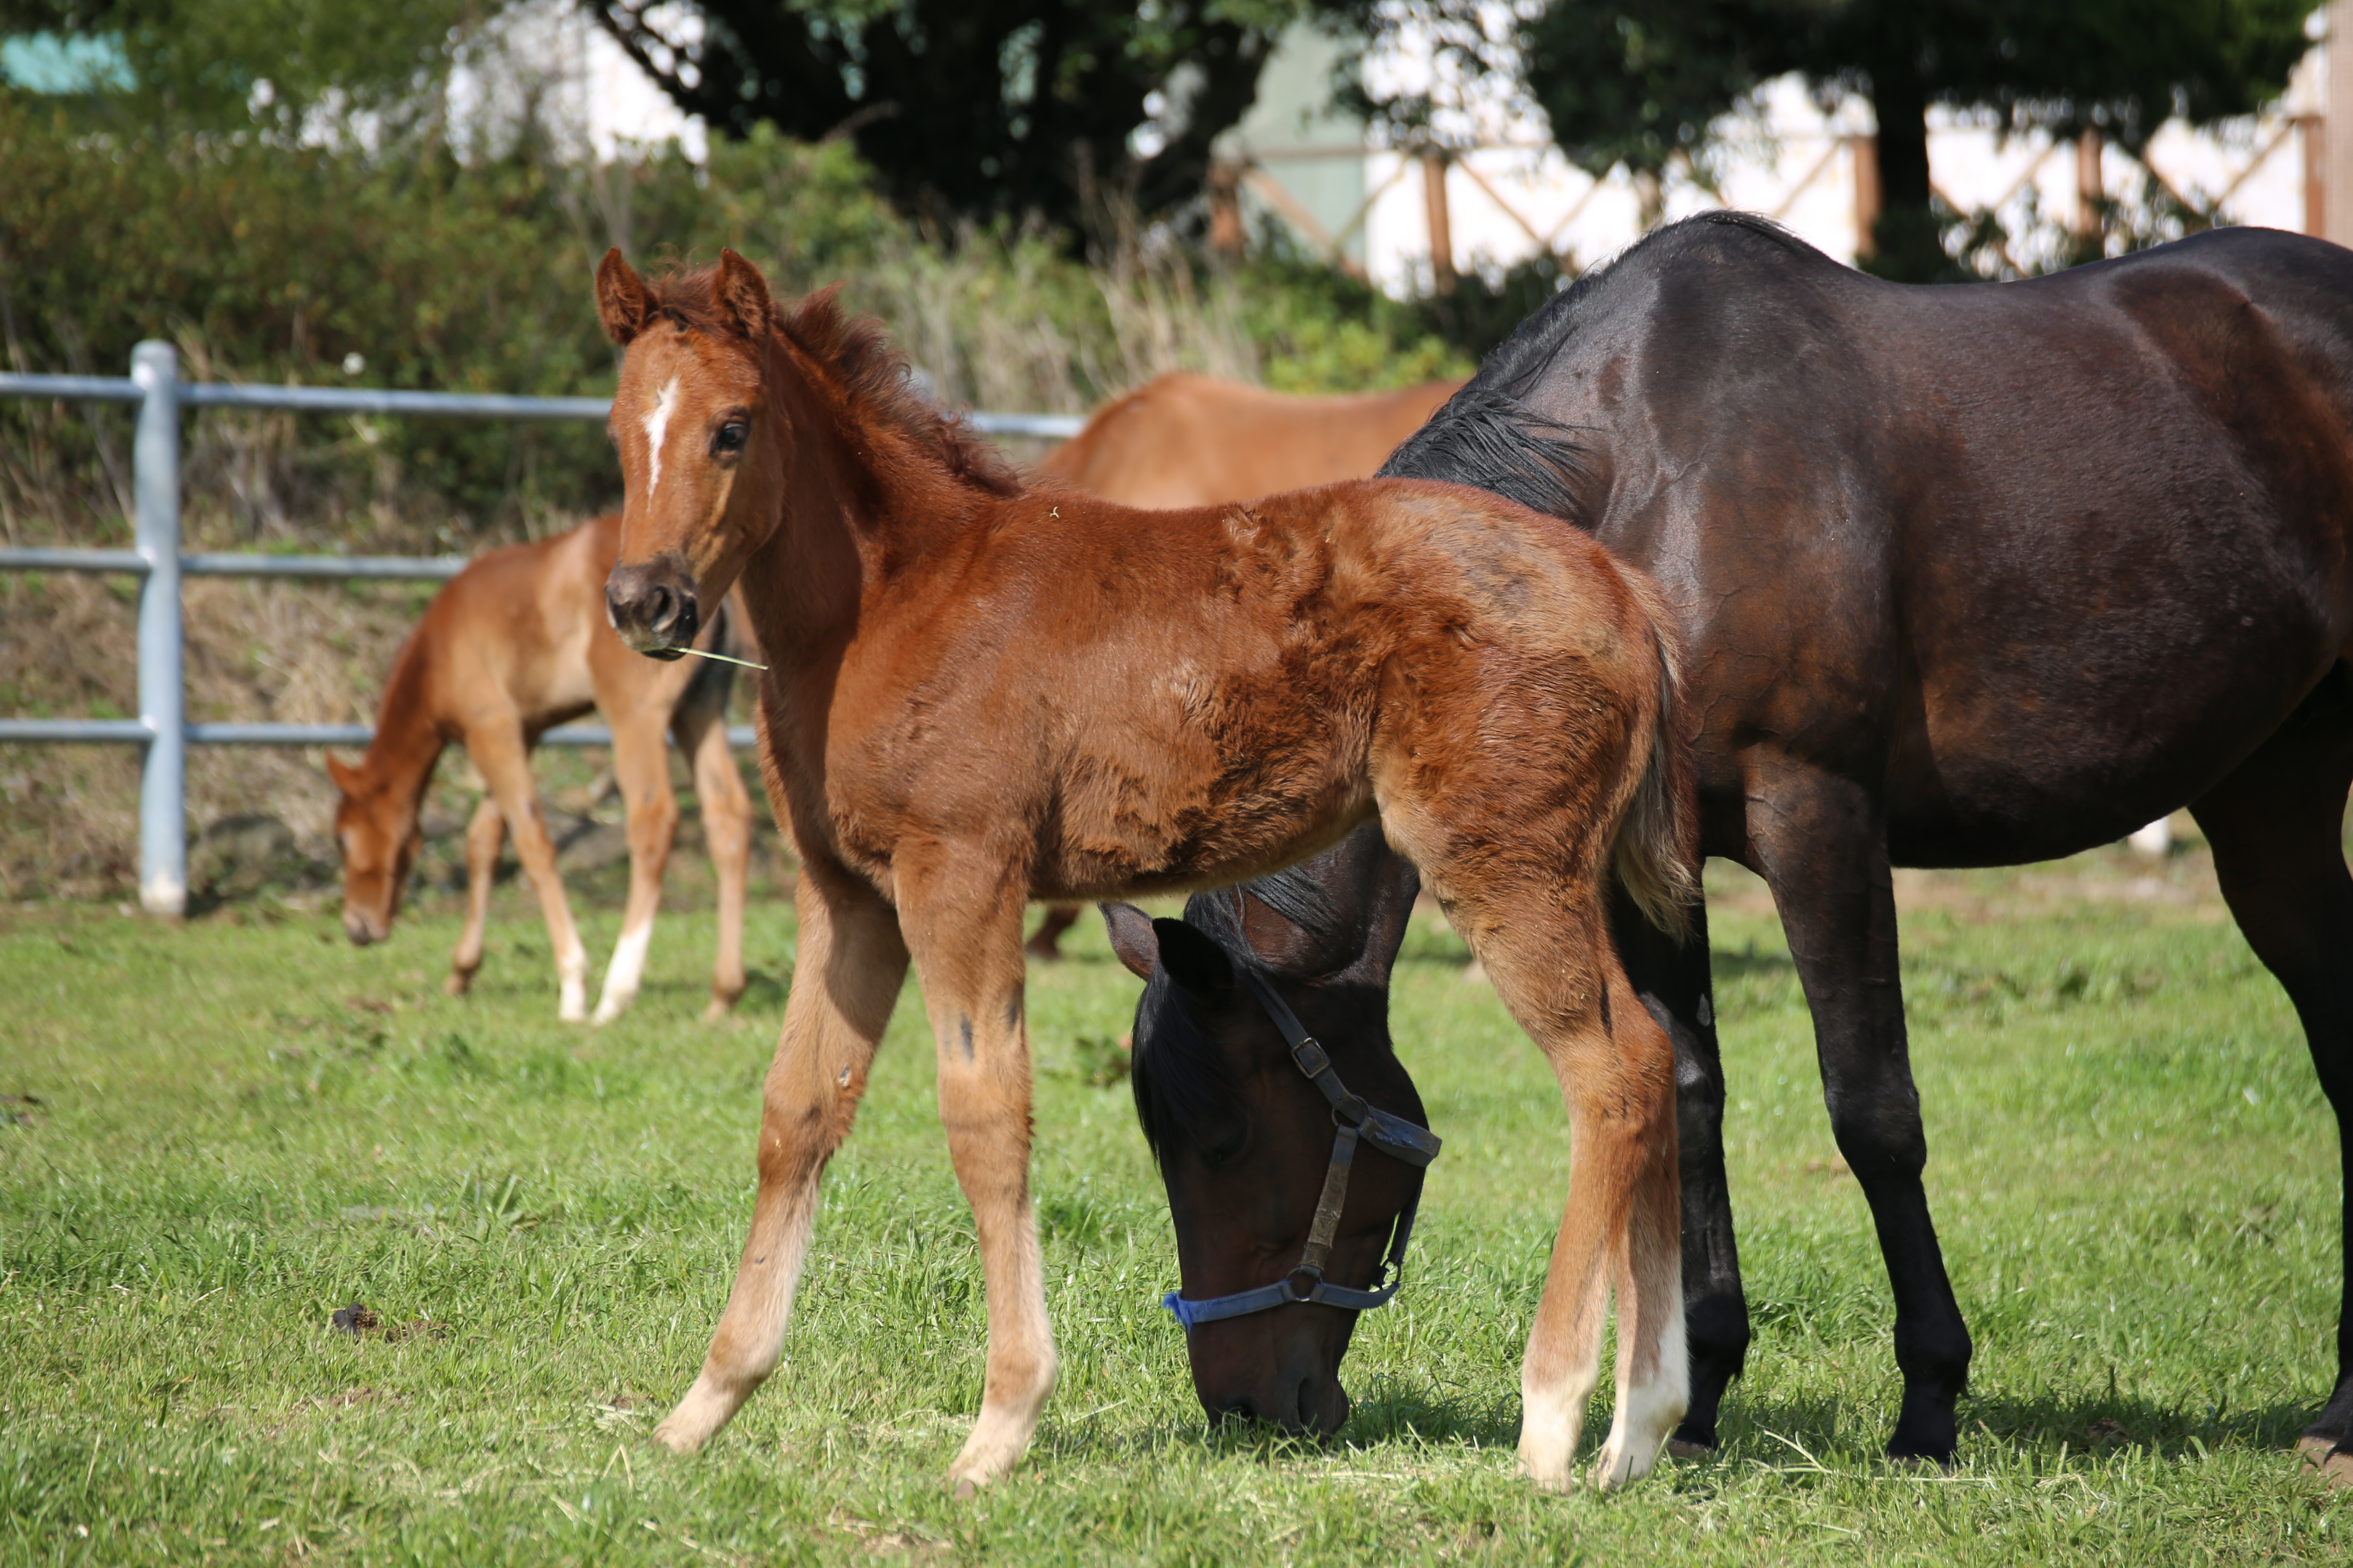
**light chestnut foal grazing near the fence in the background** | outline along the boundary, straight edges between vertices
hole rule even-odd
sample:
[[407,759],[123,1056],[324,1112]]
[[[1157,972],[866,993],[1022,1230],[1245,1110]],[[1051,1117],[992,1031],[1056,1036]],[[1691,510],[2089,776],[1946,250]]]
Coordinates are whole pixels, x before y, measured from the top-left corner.
[[482,966],[482,924],[499,837],[515,832],[539,912],[548,922],[560,983],[558,1016],[588,1018],[588,952],[572,929],[555,844],[539,816],[532,748],[539,736],[591,708],[612,726],[612,766],[628,804],[628,910],[591,1023],[609,1023],[635,999],[645,950],[661,907],[661,872],[678,830],[671,759],[661,733],[694,759],[711,863],[720,879],[720,950],[711,1006],[720,1018],[744,994],[744,882],[751,870],[751,795],[727,750],[725,665],[654,665],[605,625],[605,574],[621,543],[621,520],[598,517],[569,534],[492,550],[449,578],[393,658],[376,736],[358,766],[327,757],[344,792],[334,837],[344,849],[344,931],[381,943],[409,882],[421,835],[416,811],[433,764],[452,741],[482,773],[489,795],[466,827],[466,929],[449,954],[449,994],[461,997]]

